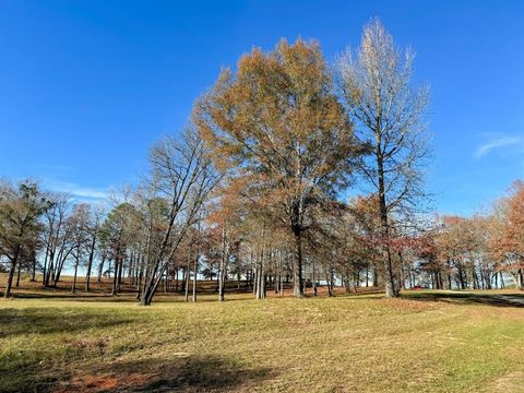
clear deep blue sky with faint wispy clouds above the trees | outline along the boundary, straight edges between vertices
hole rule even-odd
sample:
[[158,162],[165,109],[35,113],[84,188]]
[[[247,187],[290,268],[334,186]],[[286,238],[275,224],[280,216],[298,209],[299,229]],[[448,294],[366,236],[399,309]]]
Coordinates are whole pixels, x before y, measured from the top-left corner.
[[524,178],[522,1],[0,1],[0,176],[97,199],[253,46],[321,41],[332,60],[379,16],[431,85],[441,213],[471,214]]

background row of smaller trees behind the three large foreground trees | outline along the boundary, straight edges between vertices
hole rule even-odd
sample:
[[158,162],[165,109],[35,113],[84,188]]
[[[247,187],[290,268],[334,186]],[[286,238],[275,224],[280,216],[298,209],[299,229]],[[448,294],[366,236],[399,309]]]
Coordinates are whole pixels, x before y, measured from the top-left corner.
[[[38,273],[44,286],[53,287],[64,266],[73,272],[73,293],[81,266],[86,291],[95,271],[98,283],[103,276],[111,277],[114,295],[122,282],[135,288],[139,299],[146,295],[155,277],[151,270],[156,266],[147,253],[152,248],[158,252],[168,230],[165,200],[144,203],[143,192],[135,192],[132,198],[123,195],[128,201],[106,213],[100,206],[71,204],[63,194],[40,192],[31,182],[17,188],[3,183],[1,190],[0,246],[9,266],[4,296],[9,297],[16,272],[19,279],[21,272],[27,272],[33,281]],[[163,273],[158,273],[158,283],[153,282],[155,291],[163,284],[166,291],[184,291],[187,300],[192,293],[195,300],[200,275],[216,278],[219,300],[231,278],[237,289],[242,285],[263,298],[269,287],[283,294],[293,282],[296,250],[291,234],[259,210],[237,205],[238,198],[222,195],[214,203],[207,199],[205,209],[192,219],[183,217],[174,224],[171,230],[178,235],[170,237],[179,242],[166,246],[175,251],[165,267],[158,266]],[[343,284],[346,293],[362,285],[384,285],[378,205],[377,195],[358,196],[315,211],[314,225],[303,239],[302,291],[310,286],[317,294],[321,282],[330,295],[335,283]],[[400,287],[491,289],[512,284],[523,288],[523,209],[524,184],[515,182],[489,214],[437,216],[417,231],[402,231],[404,226],[392,221],[389,248]],[[164,217],[156,224],[154,212]]]

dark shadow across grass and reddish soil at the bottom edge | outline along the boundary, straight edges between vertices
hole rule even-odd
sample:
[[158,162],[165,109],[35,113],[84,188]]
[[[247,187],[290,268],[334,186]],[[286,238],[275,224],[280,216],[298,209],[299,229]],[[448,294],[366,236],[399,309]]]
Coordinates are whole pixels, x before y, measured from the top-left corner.
[[68,381],[37,385],[43,392],[226,392],[249,391],[276,377],[270,368],[248,369],[218,356],[172,354],[169,359],[119,361]]

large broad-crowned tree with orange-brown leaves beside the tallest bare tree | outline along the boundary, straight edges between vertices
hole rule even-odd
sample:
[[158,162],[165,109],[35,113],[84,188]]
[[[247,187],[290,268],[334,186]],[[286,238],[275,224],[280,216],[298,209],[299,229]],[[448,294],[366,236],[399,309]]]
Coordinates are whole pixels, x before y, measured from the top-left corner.
[[237,71],[222,71],[195,104],[194,122],[216,160],[252,179],[258,198],[293,234],[294,295],[302,297],[310,207],[347,184],[361,151],[320,45],[283,39],[269,53],[242,56]]

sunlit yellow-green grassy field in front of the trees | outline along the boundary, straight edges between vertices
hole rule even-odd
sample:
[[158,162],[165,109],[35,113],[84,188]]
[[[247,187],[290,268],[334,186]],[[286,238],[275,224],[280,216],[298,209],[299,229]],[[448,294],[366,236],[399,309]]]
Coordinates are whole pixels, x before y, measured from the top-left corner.
[[2,392],[524,392],[517,293],[20,296],[0,301]]

